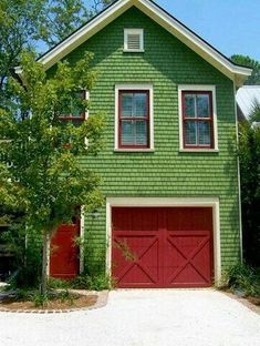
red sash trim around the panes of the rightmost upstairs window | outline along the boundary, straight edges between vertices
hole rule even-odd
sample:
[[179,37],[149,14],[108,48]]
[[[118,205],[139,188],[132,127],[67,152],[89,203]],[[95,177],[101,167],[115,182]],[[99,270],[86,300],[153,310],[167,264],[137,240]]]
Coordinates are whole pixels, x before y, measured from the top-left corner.
[[[188,118],[185,114],[185,94],[208,94],[209,95],[209,110],[210,110],[210,116],[209,118]],[[214,103],[212,103],[212,91],[202,91],[202,90],[185,90],[181,91],[181,113],[183,113],[183,143],[184,149],[215,149],[215,138],[214,138]],[[186,133],[185,133],[185,122],[195,121],[208,121],[210,124],[210,144],[186,144]]]

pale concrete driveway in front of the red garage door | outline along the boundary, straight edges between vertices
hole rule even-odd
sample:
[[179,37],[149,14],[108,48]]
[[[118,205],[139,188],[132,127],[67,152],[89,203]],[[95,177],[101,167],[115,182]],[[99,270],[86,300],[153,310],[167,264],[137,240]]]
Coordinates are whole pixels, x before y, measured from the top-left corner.
[[115,291],[105,307],[0,313],[1,346],[260,346],[260,315],[212,289]]

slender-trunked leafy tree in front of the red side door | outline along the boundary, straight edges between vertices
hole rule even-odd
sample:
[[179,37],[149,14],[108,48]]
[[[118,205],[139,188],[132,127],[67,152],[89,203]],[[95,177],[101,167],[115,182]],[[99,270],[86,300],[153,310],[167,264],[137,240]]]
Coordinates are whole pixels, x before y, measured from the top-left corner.
[[[15,106],[0,110],[0,193],[3,206],[22,208],[27,227],[42,236],[42,293],[46,291],[48,242],[61,223],[71,221],[75,206],[86,211],[103,202],[100,177],[82,167],[79,155],[95,155],[102,147],[102,115],[75,126],[62,121],[87,101],[76,98],[91,90],[96,75],[86,53],[73,67],[63,62],[48,78],[32,54],[22,55],[25,88],[13,78],[9,89]],[[85,141],[87,139],[87,143]]]

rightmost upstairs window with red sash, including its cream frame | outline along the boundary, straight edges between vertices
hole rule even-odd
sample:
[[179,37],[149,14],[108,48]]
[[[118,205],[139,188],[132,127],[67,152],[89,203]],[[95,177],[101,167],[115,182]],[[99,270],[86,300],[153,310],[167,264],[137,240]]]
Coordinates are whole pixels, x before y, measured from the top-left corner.
[[180,149],[217,150],[214,86],[179,88]]

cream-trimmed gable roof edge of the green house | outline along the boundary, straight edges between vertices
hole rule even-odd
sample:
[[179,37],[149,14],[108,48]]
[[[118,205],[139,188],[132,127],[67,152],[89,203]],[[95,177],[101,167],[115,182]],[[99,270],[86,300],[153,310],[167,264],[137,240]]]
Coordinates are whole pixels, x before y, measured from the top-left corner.
[[[201,39],[152,0],[117,0],[113,2],[101,13],[74,31],[70,37],[45,52],[38,61],[43,64],[45,70],[50,69],[59,60],[67,55],[71,51],[89,40],[133,6],[227,75],[236,83],[236,85],[242,85],[248,75],[251,74],[251,69],[238,65],[230,61],[207,41]],[[20,68],[15,68],[15,73],[21,74],[21,72]]]

